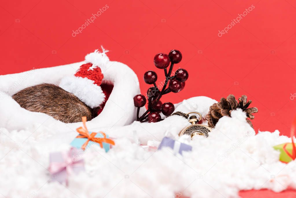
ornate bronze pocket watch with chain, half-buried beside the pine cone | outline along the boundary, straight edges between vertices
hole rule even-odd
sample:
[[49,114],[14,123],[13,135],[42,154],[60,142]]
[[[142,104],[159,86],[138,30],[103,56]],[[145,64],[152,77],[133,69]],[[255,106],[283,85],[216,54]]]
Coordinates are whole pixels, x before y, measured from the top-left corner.
[[[192,115],[189,117],[190,114],[199,115],[199,119],[197,119],[197,117],[195,115]],[[188,127],[185,127],[183,130],[181,130],[181,132],[179,133],[179,136],[189,135],[191,137],[191,139],[195,135],[203,135],[205,137],[208,137],[209,132],[212,131],[211,128],[206,125],[197,124],[202,119],[202,114],[200,114],[199,112],[192,111],[192,112],[189,112],[188,114],[184,114],[184,113],[178,111],[178,112],[174,113],[174,115],[180,115],[180,116],[185,117],[186,119],[188,119],[188,117],[189,117],[189,122],[191,123],[191,125],[189,125]]]

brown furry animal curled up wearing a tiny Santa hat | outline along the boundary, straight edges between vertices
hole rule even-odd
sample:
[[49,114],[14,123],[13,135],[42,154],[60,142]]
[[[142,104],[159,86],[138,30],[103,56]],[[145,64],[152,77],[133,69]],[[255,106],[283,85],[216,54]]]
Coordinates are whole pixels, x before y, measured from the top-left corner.
[[89,106],[54,84],[27,87],[12,98],[28,111],[45,113],[65,123],[81,122],[82,116],[86,116],[88,121],[93,118]]

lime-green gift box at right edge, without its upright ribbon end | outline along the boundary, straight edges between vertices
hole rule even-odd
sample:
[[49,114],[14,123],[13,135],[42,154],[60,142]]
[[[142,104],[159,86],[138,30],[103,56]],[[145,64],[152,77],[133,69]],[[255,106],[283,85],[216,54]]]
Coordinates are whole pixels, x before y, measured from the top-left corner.
[[[296,146],[296,143],[294,145]],[[279,145],[274,146],[274,149],[277,151],[280,151],[279,161],[281,161],[281,162],[289,163],[295,159],[295,154],[293,155],[293,144],[292,143],[279,144]]]

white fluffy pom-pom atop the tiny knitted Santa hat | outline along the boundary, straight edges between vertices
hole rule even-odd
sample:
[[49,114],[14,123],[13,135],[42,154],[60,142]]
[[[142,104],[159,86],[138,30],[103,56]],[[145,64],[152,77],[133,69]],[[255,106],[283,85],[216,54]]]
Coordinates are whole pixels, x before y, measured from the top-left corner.
[[109,58],[106,55],[108,50],[105,50],[102,47],[102,52],[99,52],[98,49],[96,49],[94,52],[89,53],[88,55],[85,56],[85,61],[87,63],[92,63],[93,65],[89,69],[94,69],[95,67],[101,68],[102,73],[106,71],[107,69],[107,63],[109,62]]

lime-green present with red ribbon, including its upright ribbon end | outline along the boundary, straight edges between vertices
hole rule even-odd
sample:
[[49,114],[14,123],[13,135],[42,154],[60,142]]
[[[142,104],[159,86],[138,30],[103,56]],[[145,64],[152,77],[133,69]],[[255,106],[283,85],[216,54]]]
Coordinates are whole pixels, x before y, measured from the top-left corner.
[[294,143],[294,134],[296,127],[296,117],[291,127],[291,139],[292,143],[283,143],[274,146],[274,149],[280,151],[279,160],[284,163],[289,163],[296,159],[296,144]]

